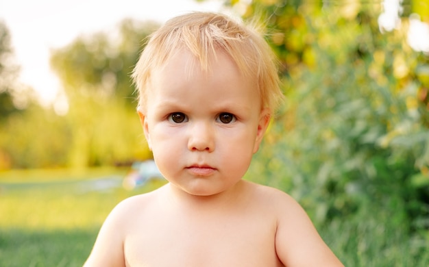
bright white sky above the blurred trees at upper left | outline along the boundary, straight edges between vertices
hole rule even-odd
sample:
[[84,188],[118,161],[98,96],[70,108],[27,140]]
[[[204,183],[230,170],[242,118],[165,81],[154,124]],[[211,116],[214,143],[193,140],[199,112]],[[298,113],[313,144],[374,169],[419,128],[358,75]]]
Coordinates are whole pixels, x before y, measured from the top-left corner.
[[223,1],[207,0],[0,0],[0,20],[12,38],[19,81],[49,104],[60,81],[49,66],[50,49],[64,47],[81,34],[113,29],[123,18],[163,23],[194,10],[224,11]]

